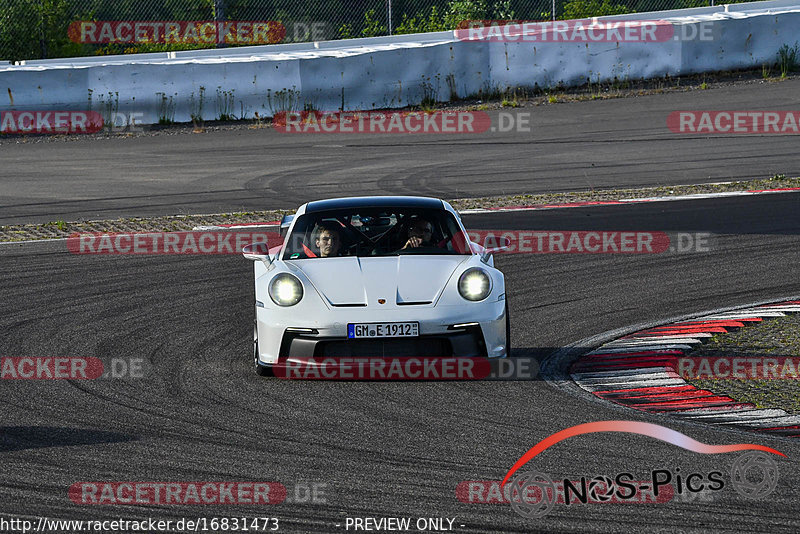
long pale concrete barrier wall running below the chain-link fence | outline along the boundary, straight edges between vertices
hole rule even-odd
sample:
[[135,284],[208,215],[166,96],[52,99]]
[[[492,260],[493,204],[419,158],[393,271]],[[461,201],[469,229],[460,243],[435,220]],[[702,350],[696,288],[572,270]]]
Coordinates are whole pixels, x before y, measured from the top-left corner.
[[[777,0],[600,21],[666,20],[664,42],[467,42],[453,32],[0,64],[0,111],[86,110],[137,122],[303,109],[380,109],[480,91],[676,76],[774,63],[800,39],[800,3]],[[7,90],[3,90],[7,89]]]

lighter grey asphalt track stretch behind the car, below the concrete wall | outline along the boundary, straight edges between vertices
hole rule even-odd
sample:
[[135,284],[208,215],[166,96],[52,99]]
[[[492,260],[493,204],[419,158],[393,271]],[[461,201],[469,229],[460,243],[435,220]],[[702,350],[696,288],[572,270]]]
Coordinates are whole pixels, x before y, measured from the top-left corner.
[[[667,82],[665,82],[666,84]],[[531,131],[272,129],[0,143],[0,224],[294,209],[360,194],[445,199],[800,175],[792,135],[675,134],[682,110],[792,110],[800,80],[530,106]],[[723,107],[720,107],[724,103]],[[498,112],[491,112],[499,127]],[[519,123],[517,123],[519,124]]]

